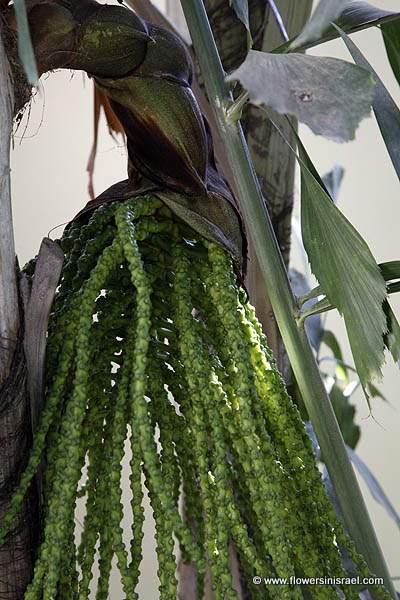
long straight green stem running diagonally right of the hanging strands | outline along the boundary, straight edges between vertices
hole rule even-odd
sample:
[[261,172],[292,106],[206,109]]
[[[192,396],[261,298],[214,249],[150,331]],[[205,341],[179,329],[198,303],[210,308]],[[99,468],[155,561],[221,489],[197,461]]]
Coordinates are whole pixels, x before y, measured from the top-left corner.
[[298,306],[269,219],[240,123],[226,119],[232,95],[214,42],[202,0],[181,0],[200,64],[220,138],[234,176],[246,230],[260,263],[265,292],[296,377],[302,398],[318,437],[346,527],[371,571],[383,577],[393,598],[396,592],[348,459],[335,414],[321,379],[307,335],[298,327]]

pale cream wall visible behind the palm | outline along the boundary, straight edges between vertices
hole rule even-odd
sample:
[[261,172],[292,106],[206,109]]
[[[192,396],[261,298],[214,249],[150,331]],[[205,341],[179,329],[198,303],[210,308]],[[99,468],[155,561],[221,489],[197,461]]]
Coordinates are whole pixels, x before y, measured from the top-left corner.
[[[175,0],[159,0],[162,9],[168,3],[171,16],[179,14]],[[375,5],[398,9],[398,0],[375,0]],[[179,17],[178,17],[179,18]],[[376,30],[354,36],[393,97],[400,102],[399,88],[386,60],[380,33]],[[330,42],[312,51],[313,54],[350,60],[340,42]],[[81,73],[58,72],[46,76],[25,119],[14,137],[12,153],[13,210],[16,246],[21,264],[36,254],[40,240],[48,232],[71,219],[88,200],[85,166],[88,159],[92,126],[92,84]],[[370,244],[378,261],[400,258],[398,238],[400,197],[398,180],[391,167],[373,117],[365,120],[355,142],[338,145],[314,136],[301,128],[303,141],[321,173],[334,164],[344,166],[346,173],[340,194],[340,207]],[[101,127],[96,161],[95,188],[100,193],[112,183],[126,177],[126,152]],[[62,228],[55,230],[58,237]],[[351,260],[351,257],[349,257]],[[294,264],[300,265],[294,252]],[[394,299],[400,317],[400,301]],[[343,324],[330,315],[328,326],[340,337],[348,352]],[[368,416],[365,400],[354,397],[359,410],[362,438],[359,454],[378,477],[380,483],[400,510],[400,373],[388,360],[381,389],[390,403],[377,400],[373,416]],[[365,491],[372,519],[393,576],[400,576],[399,532],[384,510]],[[157,598],[157,577],[154,571],[152,524],[149,519],[145,540],[142,597]],[[113,583],[111,597],[119,600],[118,582]]]

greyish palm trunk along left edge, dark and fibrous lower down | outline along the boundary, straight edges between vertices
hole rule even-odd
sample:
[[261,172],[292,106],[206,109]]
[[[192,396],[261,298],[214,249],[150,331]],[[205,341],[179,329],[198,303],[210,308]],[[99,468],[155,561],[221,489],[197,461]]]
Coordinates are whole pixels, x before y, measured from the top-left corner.
[[[12,123],[13,86],[0,28],[0,519],[8,508],[31,445],[11,215]],[[33,515],[37,515],[35,495],[28,494],[12,532],[0,549],[0,597],[4,600],[21,600],[31,578],[35,547]]]

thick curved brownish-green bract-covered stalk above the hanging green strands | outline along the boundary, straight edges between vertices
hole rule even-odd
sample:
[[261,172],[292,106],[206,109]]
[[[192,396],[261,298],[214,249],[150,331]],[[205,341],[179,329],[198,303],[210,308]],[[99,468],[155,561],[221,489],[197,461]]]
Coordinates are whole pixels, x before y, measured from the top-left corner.
[[86,71],[126,134],[125,193],[116,198],[121,186],[113,186],[84,211],[111,197],[123,199],[126,192],[157,190],[177,217],[222,244],[241,264],[240,219],[215,166],[211,135],[191,89],[191,59],[181,40],[131,10],[94,0],[41,2],[28,17],[40,73]]

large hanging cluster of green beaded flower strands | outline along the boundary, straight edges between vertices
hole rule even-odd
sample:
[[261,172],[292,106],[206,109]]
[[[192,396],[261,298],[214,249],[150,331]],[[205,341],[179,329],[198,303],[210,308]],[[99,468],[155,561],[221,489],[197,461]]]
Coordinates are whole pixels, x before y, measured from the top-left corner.
[[[61,240],[46,404],[0,529],[1,543],[41,468],[43,538],[26,600],[106,600],[114,557],[125,597],[138,598],[143,481],[161,600],[178,597],[175,537],[196,569],[198,598],[207,570],[216,600],[238,598],[232,545],[248,597],[358,598],[345,581],[308,591],[252,583],[346,578],[339,546],[359,574],[368,571],[332,511],[231,258],[195,238],[158,199],[141,196],[100,207]],[[121,489],[127,443],[129,510]],[[77,536],[78,501],[85,518]]]

